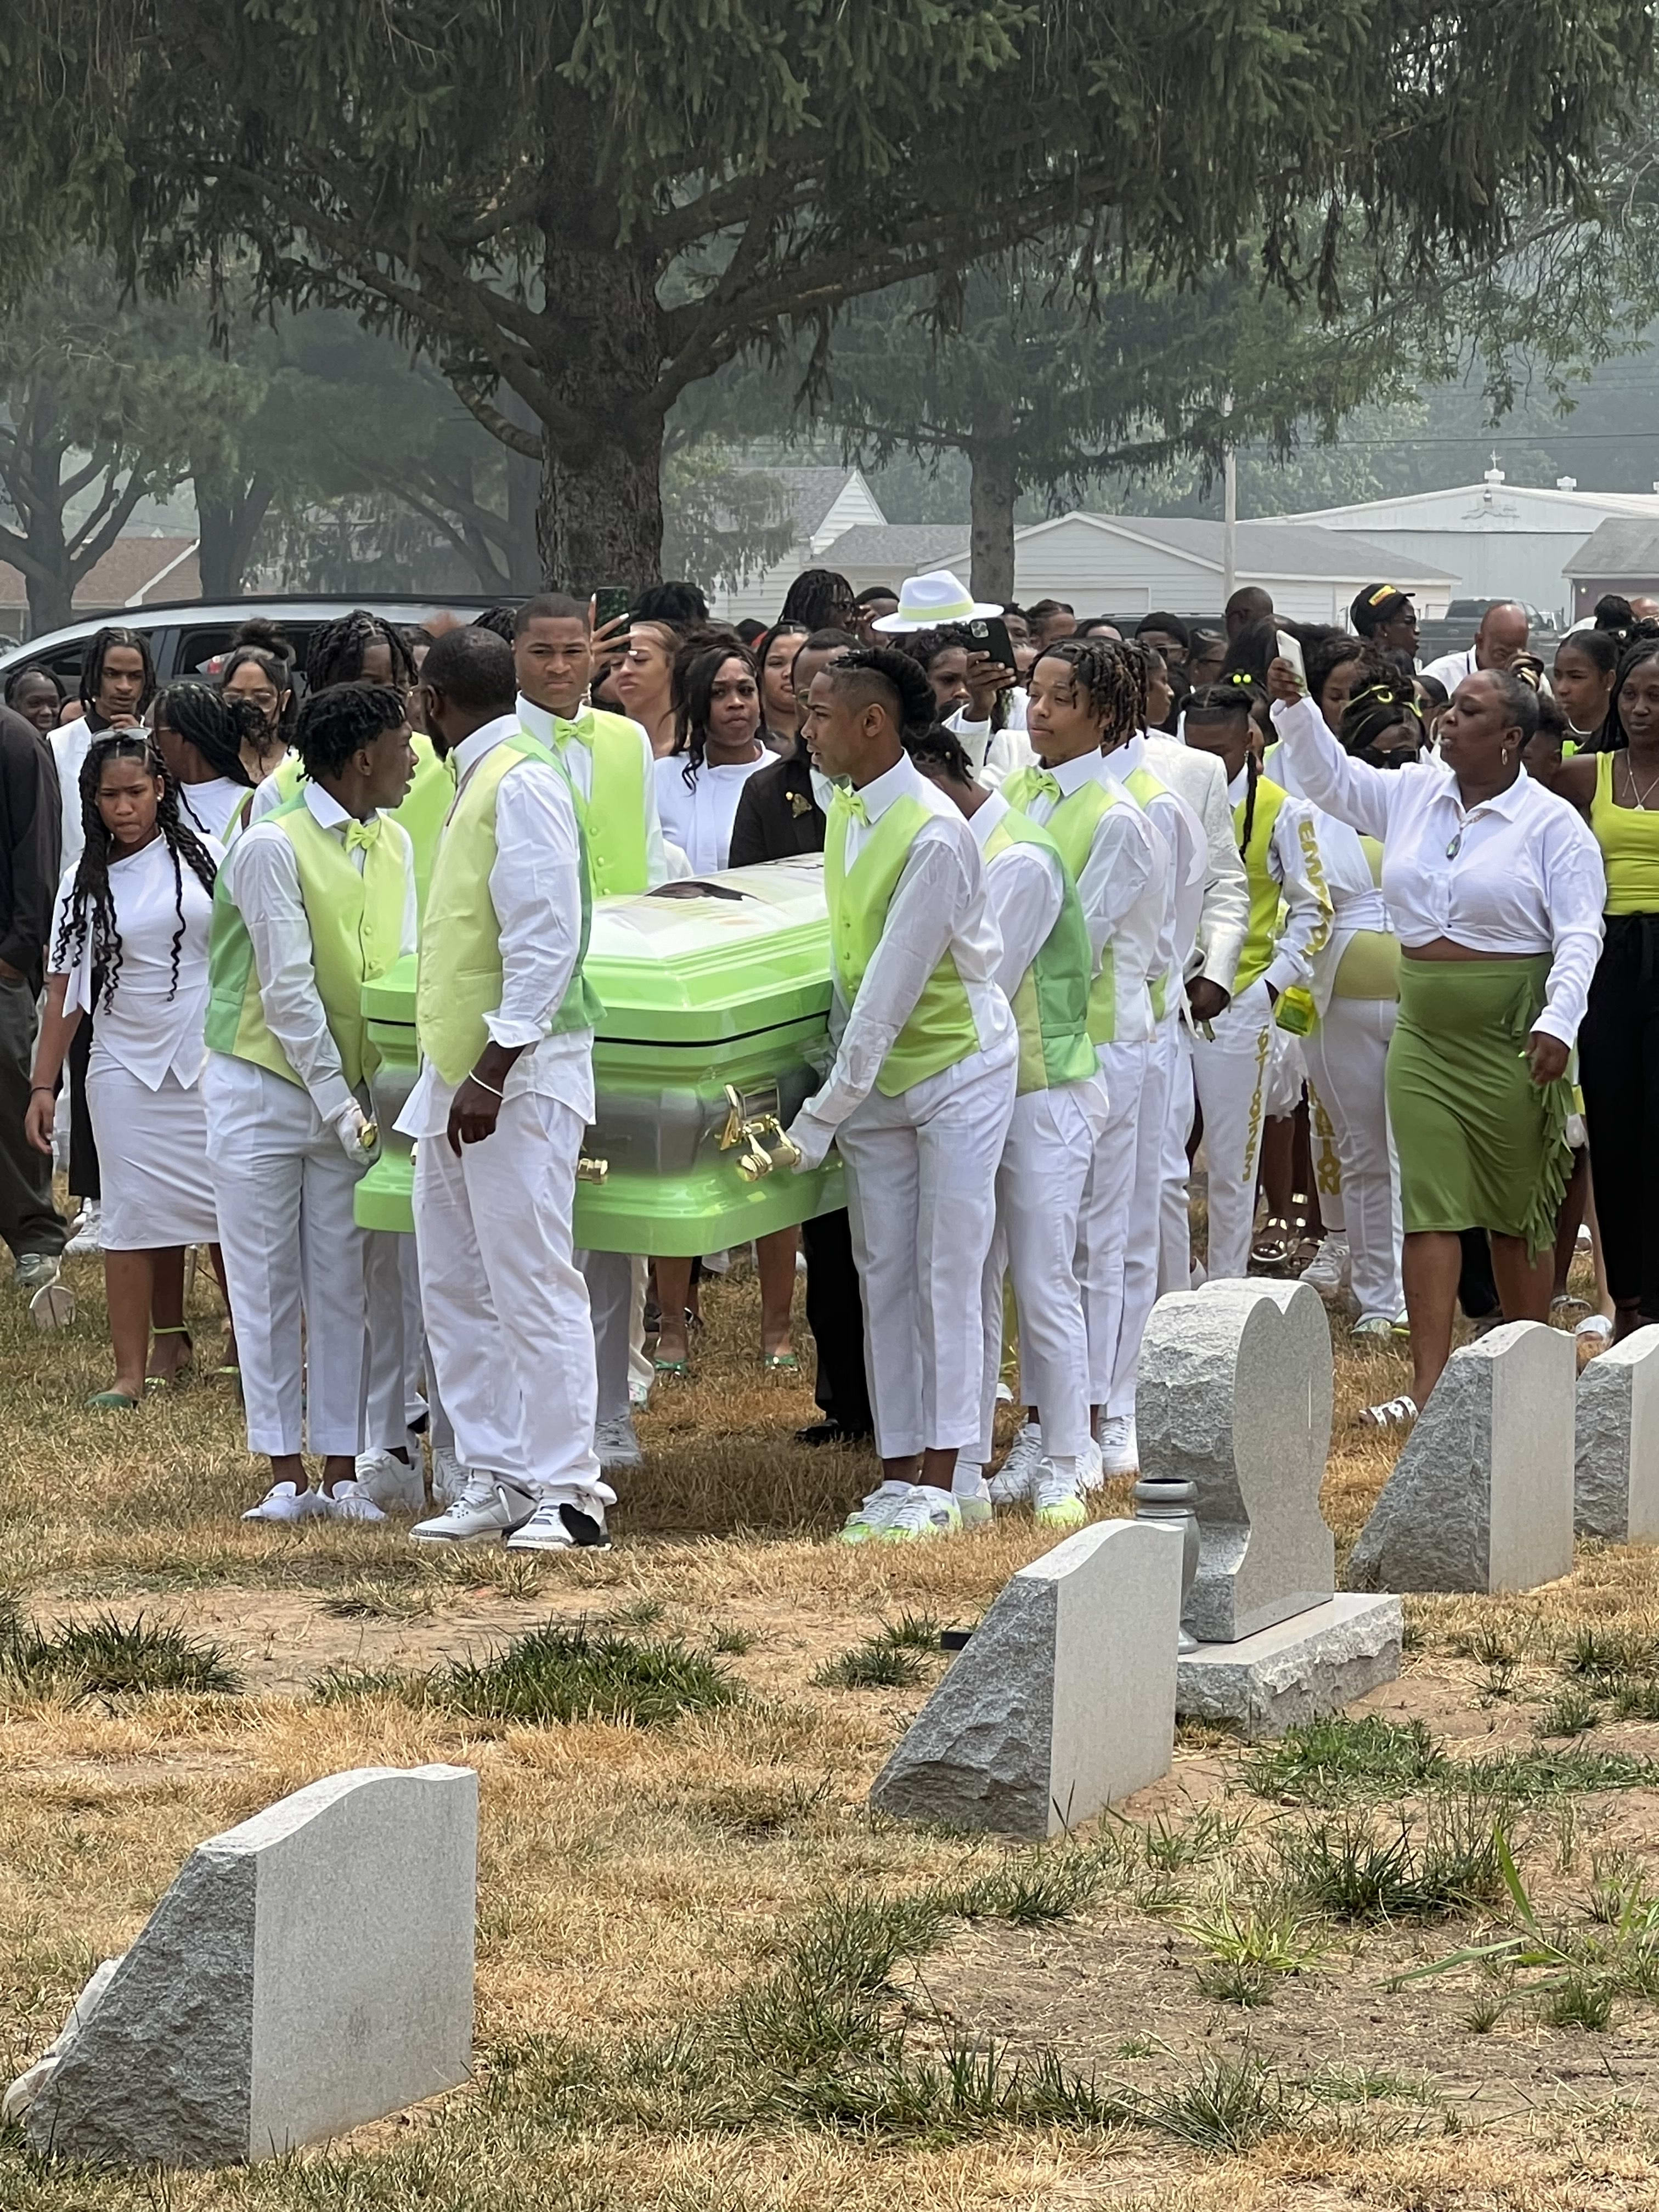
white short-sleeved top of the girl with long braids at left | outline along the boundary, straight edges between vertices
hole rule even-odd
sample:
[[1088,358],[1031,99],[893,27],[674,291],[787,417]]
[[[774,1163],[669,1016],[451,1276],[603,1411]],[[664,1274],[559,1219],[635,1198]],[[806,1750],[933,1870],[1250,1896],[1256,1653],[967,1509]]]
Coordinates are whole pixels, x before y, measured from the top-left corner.
[[[204,843],[215,867],[221,865],[223,847],[215,838],[204,838]],[[153,838],[142,852],[111,860],[108,887],[115,902],[115,931],[122,940],[122,964],[113,998],[108,1004],[100,1000],[95,1006],[91,927],[73,969],[58,967],[53,960],[75,902],[75,867],[66,869],[58,885],[46,964],[53,975],[69,975],[64,1013],[80,1009],[95,1015],[93,1053],[106,1053],[146,1091],[159,1091],[168,1073],[188,1086],[197,1082],[201,1062],[208,1057],[201,1029],[208,1020],[212,891],[184,858],[175,878],[173,852],[164,836]],[[173,938],[179,929],[179,914],[184,914],[184,940],[179,942],[175,989]]]

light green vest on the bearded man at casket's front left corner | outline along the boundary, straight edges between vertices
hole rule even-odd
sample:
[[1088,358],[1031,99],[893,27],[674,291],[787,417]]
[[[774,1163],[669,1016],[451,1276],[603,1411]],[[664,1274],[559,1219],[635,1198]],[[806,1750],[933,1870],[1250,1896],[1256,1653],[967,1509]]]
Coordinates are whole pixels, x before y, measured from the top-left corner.
[[[495,867],[495,792],[520,761],[560,765],[529,730],[513,730],[500,745],[491,745],[449,810],[431,869],[427,911],[420,920],[416,1037],[447,1084],[458,1084],[471,1073],[473,1062],[489,1044],[484,1015],[502,1002],[500,922],[489,902],[489,872]],[[577,832],[580,821],[577,810]],[[582,942],[575,973],[553,1013],[549,1035],[593,1029],[595,1018],[604,1011],[582,975],[582,962],[588,953],[588,914],[584,854]]]

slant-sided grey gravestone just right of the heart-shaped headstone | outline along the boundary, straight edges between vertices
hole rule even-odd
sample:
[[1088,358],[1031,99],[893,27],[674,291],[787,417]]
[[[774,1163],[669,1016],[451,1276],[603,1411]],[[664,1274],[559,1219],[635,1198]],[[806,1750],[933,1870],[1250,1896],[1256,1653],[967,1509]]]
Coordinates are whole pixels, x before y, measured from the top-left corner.
[[1451,1354],[1349,1562],[1356,1590],[1533,1590],[1573,1571],[1573,1338],[1509,1321]]

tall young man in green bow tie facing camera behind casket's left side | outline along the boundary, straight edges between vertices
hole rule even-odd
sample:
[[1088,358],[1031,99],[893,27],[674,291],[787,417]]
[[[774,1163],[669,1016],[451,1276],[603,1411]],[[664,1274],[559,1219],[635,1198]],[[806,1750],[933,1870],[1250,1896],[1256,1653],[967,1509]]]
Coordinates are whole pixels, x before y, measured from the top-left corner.
[[[588,701],[588,604],[557,591],[526,599],[513,617],[513,668],[520,723],[571,779],[586,838],[591,896],[655,891],[659,883],[668,883],[650,737],[626,714],[611,714]],[[580,1265],[588,1283],[599,1363],[599,1458],[606,1467],[637,1467],[628,1367],[635,1338],[644,1343],[646,1261],[628,1259],[626,1252],[582,1252]],[[650,1369],[644,1360],[639,1376],[648,1387]]]

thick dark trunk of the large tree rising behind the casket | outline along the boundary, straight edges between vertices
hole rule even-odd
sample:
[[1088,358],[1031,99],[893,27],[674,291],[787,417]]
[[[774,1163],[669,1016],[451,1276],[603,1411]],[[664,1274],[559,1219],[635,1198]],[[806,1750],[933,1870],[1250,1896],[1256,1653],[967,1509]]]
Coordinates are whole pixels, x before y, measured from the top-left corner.
[[655,259],[560,237],[542,281],[555,305],[538,369],[566,411],[544,427],[542,582],[577,599],[599,584],[637,591],[661,575]]

